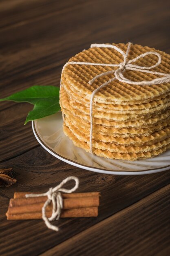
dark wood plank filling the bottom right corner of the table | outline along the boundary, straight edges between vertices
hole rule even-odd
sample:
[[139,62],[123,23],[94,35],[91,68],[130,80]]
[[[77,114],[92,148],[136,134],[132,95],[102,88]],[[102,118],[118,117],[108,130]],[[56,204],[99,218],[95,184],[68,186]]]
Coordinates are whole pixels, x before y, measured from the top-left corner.
[[170,253],[169,206],[170,185],[66,240],[41,256],[88,256],[89,254],[91,256],[168,256]]

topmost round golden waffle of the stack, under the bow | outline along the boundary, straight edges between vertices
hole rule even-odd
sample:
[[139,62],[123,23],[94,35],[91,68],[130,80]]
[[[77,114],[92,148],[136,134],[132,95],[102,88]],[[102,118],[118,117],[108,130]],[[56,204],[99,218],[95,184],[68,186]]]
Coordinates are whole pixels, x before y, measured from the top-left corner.
[[[115,44],[113,44],[115,45]],[[128,44],[117,44],[120,49],[126,52]],[[148,51],[158,52],[162,56],[162,62],[159,67],[155,67],[155,71],[168,73],[170,70],[170,56],[164,52],[155,50],[154,48],[142,47],[141,45],[132,45],[128,59],[136,58],[140,54]],[[119,64],[123,61],[123,58],[119,52],[112,48],[90,48],[83,52],[80,52],[75,57],[72,57],[69,61],[81,61],[92,63],[115,63]],[[136,61],[136,65],[142,66],[143,63],[146,66],[152,66],[157,62],[155,55],[146,56]],[[64,77],[71,88],[76,90],[80,96],[91,99],[91,93],[102,83],[108,81],[110,77],[102,76],[97,79],[93,85],[89,85],[89,80],[106,71],[117,69],[117,67],[107,66],[93,66],[93,65],[78,65],[68,64],[64,68]],[[158,78],[159,75],[150,73],[138,72],[138,71],[126,71],[126,77],[133,81],[150,81],[151,79]],[[161,85],[129,85],[128,83],[122,83],[119,81],[113,81],[105,88],[101,89],[96,95],[94,102],[106,103],[110,102],[137,102],[147,99],[153,99],[170,92],[170,83]]]

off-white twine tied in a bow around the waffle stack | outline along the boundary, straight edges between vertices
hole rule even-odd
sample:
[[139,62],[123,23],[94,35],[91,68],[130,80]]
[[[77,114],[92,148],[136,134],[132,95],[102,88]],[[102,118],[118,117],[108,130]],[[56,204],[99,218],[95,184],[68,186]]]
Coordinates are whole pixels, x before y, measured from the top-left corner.
[[[141,54],[141,55],[137,56],[136,58],[133,58],[132,60],[128,61],[128,54],[129,54],[131,45],[132,45],[132,43],[128,43],[128,48],[127,48],[126,54],[124,53],[124,51],[122,51],[119,47],[117,47],[115,45],[107,45],[107,44],[92,44],[91,45],[91,48],[93,48],[93,47],[99,47],[99,48],[104,47],[104,48],[113,48],[113,49],[115,49],[124,58],[123,62],[121,62],[120,64],[104,64],[104,63],[91,63],[91,62],[70,61],[70,62],[67,62],[64,65],[63,69],[62,69],[62,72],[63,72],[64,68],[68,64],[118,67],[117,70],[111,70],[111,71],[108,71],[108,72],[103,72],[103,73],[95,76],[93,79],[91,79],[89,81],[89,84],[92,85],[93,82],[96,79],[98,79],[99,77],[101,77],[101,76],[106,76],[106,75],[110,75],[110,74],[114,74],[115,75],[112,79],[110,79],[106,83],[103,83],[102,85],[100,85],[91,94],[91,100],[90,100],[90,120],[91,120],[90,152],[92,154],[93,154],[93,99],[95,97],[95,94],[100,89],[102,89],[104,86],[108,85],[112,81],[115,81],[116,79],[119,82],[128,83],[128,84],[131,84],[131,85],[159,85],[161,83],[168,83],[168,82],[170,82],[170,74],[161,73],[161,72],[157,72],[157,71],[150,71],[152,68],[157,67],[161,63],[161,55],[159,53],[157,53],[157,52],[145,52],[144,54]],[[147,55],[150,55],[150,54],[153,54],[153,55],[158,57],[158,61],[157,61],[157,63],[155,65],[147,67],[147,66],[138,66],[138,65],[135,65],[135,64],[131,64],[132,62],[136,62],[139,58],[144,58],[144,56],[147,56]],[[160,75],[160,76],[163,76],[163,77],[152,79],[151,81],[132,81],[130,79],[127,79],[124,76],[125,70],[140,71],[140,72]],[[61,86],[62,86],[62,83],[60,84],[60,88],[61,88]]]

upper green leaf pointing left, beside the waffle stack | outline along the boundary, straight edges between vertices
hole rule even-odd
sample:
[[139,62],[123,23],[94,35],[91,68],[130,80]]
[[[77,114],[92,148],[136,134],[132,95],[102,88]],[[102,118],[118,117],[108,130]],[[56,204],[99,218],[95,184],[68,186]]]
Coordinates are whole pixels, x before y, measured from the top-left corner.
[[0,99],[0,101],[16,101],[16,102],[29,102],[35,104],[37,101],[44,99],[51,99],[52,97],[59,97],[59,88],[56,86],[41,86],[34,85],[21,92],[16,92],[9,97]]

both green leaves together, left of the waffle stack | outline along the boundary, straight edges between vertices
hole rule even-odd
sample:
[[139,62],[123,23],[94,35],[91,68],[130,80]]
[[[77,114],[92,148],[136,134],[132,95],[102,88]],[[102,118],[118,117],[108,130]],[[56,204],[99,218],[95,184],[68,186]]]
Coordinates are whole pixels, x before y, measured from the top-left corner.
[[25,124],[29,121],[53,115],[60,110],[60,89],[55,86],[34,85],[30,88],[16,92],[0,101],[29,102],[34,105],[26,117]]

